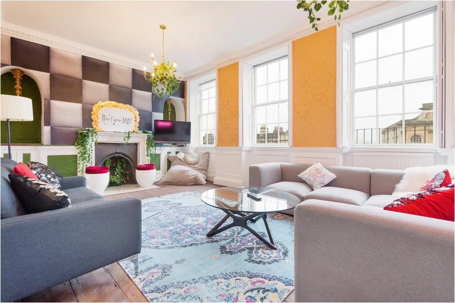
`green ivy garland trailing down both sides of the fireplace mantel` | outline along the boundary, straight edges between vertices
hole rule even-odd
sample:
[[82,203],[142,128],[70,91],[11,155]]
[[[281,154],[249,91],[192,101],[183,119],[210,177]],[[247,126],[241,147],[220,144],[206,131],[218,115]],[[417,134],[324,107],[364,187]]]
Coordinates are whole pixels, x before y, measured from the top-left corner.
[[[82,128],[78,131],[78,136],[74,142],[74,146],[78,149],[78,172],[83,175],[85,168],[92,165],[92,155],[94,153],[92,142],[98,144],[97,131],[93,128]],[[148,163],[151,163],[153,156],[156,154],[155,142],[151,131],[137,131],[135,133],[146,134],[146,155]],[[131,132],[125,132],[123,144],[127,145],[130,141]]]

